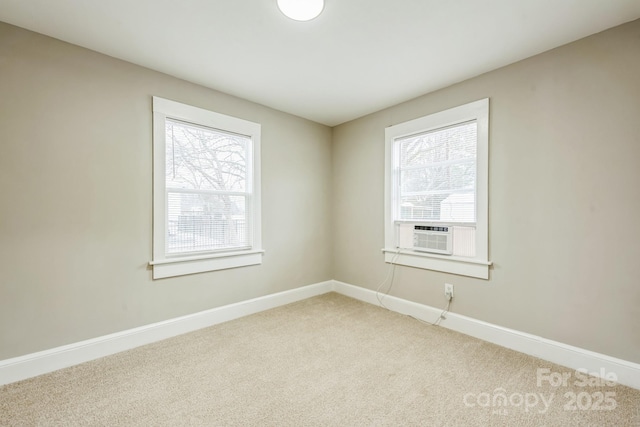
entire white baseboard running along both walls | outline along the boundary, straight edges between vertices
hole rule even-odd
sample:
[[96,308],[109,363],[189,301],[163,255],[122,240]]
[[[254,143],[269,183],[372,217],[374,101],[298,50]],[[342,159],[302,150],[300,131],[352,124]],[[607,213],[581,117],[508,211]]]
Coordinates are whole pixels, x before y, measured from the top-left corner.
[[[88,362],[331,291],[379,305],[375,291],[330,280],[3,360],[0,361],[0,385]],[[383,303],[392,311],[411,315],[427,322],[434,322],[442,312],[441,309],[393,296],[384,296]],[[594,374],[614,373],[620,384],[640,389],[640,364],[637,363],[503,328],[455,313],[448,313],[440,325],[571,369],[586,369]]]

